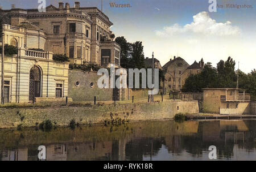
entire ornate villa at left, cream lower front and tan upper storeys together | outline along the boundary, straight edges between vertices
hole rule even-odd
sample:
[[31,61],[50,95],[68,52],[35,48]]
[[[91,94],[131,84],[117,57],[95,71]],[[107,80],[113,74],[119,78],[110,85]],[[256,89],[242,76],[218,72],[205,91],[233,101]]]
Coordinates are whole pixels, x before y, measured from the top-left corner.
[[[17,54],[4,58],[5,103],[64,100],[69,63],[120,66],[120,46],[110,31],[113,23],[97,7],[60,2],[39,12],[13,6],[0,9],[0,16],[4,44],[18,48]],[[69,63],[54,61],[54,54],[67,55]]]

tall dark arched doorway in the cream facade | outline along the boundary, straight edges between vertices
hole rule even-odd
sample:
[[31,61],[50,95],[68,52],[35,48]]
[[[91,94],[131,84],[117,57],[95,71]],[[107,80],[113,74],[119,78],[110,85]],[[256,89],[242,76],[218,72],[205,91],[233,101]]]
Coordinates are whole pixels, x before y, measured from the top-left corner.
[[30,69],[29,100],[32,101],[34,97],[41,97],[41,72],[37,66],[33,66]]

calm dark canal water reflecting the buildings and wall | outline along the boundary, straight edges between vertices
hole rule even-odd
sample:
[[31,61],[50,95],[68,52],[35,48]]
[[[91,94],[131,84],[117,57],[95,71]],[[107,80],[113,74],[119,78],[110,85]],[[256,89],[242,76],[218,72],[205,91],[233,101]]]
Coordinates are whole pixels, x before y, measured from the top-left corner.
[[256,160],[256,121],[151,121],[119,126],[0,130],[0,160]]

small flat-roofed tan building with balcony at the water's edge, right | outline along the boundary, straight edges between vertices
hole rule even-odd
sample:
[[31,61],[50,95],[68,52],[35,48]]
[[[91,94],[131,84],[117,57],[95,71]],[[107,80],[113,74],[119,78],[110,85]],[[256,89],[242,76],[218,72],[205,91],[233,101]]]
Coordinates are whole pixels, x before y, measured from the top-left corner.
[[205,88],[204,111],[218,114],[250,114],[250,94],[237,88]]

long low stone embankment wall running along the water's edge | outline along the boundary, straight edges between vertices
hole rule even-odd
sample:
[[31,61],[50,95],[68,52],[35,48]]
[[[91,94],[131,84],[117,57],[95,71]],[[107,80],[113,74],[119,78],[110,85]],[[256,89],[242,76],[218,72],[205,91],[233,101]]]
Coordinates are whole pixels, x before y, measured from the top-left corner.
[[0,108],[0,128],[34,127],[46,120],[55,126],[68,126],[72,119],[79,124],[150,121],[172,119],[177,113],[199,113],[197,101]]

